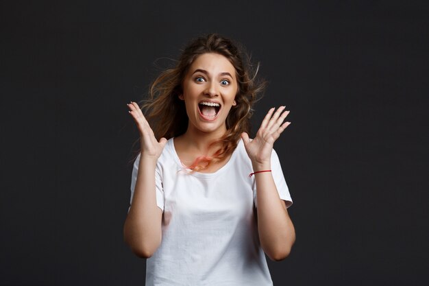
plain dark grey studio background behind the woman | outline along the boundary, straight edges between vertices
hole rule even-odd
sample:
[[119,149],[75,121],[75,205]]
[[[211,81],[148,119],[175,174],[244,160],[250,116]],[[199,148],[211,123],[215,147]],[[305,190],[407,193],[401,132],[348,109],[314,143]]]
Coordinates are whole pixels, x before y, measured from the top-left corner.
[[0,285],[144,285],[125,104],[206,32],[262,64],[254,130],[291,110],[275,285],[428,285],[429,7],[402,2],[1,1]]

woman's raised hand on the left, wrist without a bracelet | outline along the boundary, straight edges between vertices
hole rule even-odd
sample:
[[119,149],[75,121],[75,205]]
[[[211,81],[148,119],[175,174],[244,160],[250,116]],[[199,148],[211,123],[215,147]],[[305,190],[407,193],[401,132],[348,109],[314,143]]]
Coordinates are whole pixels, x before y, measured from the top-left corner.
[[167,139],[162,137],[160,141],[156,141],[154,131],[149,126],[149,123],[145,119],[143,112],[136,102],[127,104],[130,108],[130,115],[136,121],[138,132],[140,133],[140,159],[147,158],[158,160],[161,156],[162,150],[164,149]]

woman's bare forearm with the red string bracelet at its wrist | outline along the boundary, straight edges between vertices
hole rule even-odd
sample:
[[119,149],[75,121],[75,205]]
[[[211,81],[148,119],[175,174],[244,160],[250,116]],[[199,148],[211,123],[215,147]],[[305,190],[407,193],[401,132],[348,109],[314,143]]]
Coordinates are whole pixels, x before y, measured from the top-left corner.
[[[254,167],[255,171],[271,169],[269,165]],[[257,173],[256,200],[258,232],[262,249],[270,259],[278,261],[289,255],[295,242],[295,228],[280,200],[271,172]]]

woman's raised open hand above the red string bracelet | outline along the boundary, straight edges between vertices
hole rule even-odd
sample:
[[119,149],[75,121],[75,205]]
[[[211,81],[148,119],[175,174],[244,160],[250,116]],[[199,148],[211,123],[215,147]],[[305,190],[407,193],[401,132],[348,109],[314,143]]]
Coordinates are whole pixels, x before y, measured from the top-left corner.
[[283,123],[289,110],[284,111],[285,106],[280,106],[278,110],[271,108],[260,125],[256,137],[253,140],[249,139],[246,132],[241,134],[247,155],[252,160],[254,171],[271,167],[271,152],[275,140],[280,137],[280,134],[291,124],[286,121]]

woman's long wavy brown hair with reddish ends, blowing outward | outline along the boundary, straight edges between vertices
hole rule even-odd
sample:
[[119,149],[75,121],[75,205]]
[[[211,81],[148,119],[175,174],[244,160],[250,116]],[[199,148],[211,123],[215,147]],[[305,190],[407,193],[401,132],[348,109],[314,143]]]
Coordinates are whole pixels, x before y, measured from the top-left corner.
[[217,151],[210,156],[199,156],[188,167],[193,171],[206,169],[210,164],[219,162],[232,154],[242,132],[250,132],[252,106],[257,95],[265,86],[265,80],[256,79],[259,64],[252,65],[243,47],[219,34],[208,34],[195,38],[189,43],[177,61],[175,67],[162,71],[149,88],[149,98],[143,104],[145,117],[154,130],[157,140],[179,136],[188,128],[188,116],[184,102],[179,99],[183,93],[183,81],[191,64],[204,53],[218,53],[230,60],[236,70],[238,82],[235,97],[236,106],[232,106],[226,119],[227,131],[209,147],[216,146]]

